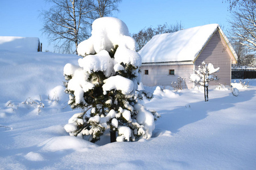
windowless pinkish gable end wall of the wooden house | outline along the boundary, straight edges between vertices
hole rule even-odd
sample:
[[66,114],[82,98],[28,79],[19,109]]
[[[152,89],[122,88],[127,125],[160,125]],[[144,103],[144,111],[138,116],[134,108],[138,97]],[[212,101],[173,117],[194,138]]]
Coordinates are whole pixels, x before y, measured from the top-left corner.
[[212,81],[209,85],[218,85],[219,83],[230,85],[231,83],[231,57],[227,52],[227,45],[223,44],[224,41],[221,39],[220,33],[216,31],[195,61],[195,69],[203,61],[212,63],[214,68],[220,67],[220,71],[216,73],[220,80]]

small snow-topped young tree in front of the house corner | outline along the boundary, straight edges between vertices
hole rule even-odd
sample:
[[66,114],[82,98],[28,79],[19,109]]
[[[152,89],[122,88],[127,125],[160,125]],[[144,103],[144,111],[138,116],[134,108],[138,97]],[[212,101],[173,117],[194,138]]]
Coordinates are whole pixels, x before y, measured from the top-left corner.
[[217,75],[214,73],[218,72],[220,67],[214,69],[212,63],[205,63],[204,61],[198,66],[198,69],[195,73],[190,75],[191,82],[199,83],[201,86],[204,86],[204,100],[208,101],[208,86],[209,82],[212,80],[218,80]]

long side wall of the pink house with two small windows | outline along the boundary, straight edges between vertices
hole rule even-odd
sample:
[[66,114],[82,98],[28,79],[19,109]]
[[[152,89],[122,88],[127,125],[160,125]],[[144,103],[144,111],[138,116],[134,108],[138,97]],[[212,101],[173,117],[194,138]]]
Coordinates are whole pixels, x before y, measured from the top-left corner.
[[[144,74],[148,70],[148,75]],[[169,75],[169,70],[175,70],[175,75]],[[142,83],[144,86],[171,86],[178,77],[185,78],[187,88],[193,87],[189,83],[189,76],[193,73],[193,65],[152,65],[141,66]]]

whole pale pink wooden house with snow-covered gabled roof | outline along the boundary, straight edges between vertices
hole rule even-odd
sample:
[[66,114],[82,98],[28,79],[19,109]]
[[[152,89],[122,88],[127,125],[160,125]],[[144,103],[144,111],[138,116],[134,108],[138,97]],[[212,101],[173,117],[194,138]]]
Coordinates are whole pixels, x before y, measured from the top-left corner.
[[154,36],[139,51],[142,57],[142,83],[145,86],[171,86],[178,77],[185,78],[187,88],[190,74],[203,61],[220,67],[220,80],[210,85],[231,83],[231,65],[237,54],[218,24],[183,29]]

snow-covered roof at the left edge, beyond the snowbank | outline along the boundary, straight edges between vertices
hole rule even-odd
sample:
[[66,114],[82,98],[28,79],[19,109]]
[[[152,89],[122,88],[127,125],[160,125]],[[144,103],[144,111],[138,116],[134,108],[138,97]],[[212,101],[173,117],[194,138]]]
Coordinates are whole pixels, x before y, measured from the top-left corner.
[[38,52],[39,38],[0,36],[0,50]]

